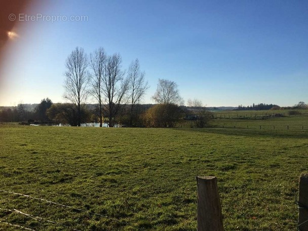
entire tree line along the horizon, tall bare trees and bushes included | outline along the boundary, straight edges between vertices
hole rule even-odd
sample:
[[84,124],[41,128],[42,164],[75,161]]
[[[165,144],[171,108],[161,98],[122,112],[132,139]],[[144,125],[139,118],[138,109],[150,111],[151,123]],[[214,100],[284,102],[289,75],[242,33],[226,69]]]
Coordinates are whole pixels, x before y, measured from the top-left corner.
[[[118,53],[108,55],[100,47],[89,55],[76,47],[65,62],[63,98],[66,103],[53,103],[44,98],[35,108],[20,103],[16,107],[0,107],[0,122],[41,124],[99,123],[100,127],[175,127],[181,120],[203,128],[213,119],[212,113],[198,99],[188,99],[187,106],[175,82],[159,79],[156,104],[141,104],[149,86],[138,59],[128,69],[122,68]],[[94,104],[90,102],[95,102]],[[299,102],[293,108],[307,108]],[[219,109],[219,108],[213,108]],[[239,105],[238,110],[280,109],[276,104]]]

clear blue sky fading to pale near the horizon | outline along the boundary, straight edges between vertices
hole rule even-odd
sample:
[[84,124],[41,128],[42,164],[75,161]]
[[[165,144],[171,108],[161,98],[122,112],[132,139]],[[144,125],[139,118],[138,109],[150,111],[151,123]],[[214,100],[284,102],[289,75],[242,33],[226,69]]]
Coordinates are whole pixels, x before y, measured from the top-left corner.
[[18,36],[6,44],[2,106],[46,97],[64,102],[65,60],[77,46],[120,53],[123,69],[138,58],[150,85],[143,103],[153,103],[158,79],[176,82],[184,100],[207,106],[308,103],[306,0],[69,0],[29,14],[46,18],[21,18]]

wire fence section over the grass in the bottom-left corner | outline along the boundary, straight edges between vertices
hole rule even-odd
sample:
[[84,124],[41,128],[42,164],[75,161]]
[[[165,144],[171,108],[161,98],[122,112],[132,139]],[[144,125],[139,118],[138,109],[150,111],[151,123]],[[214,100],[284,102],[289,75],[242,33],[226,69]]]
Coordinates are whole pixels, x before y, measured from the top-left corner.
[[[145,230],[129,222],[90,210],[75,208],[43,198],[0,190],[0,223],[25,230],[88,230],[91,225],[110,225],[115,222],[136,230]],[[14,208],[16,205],[19,208]],[[31,208],[31,211],[29,211]],[[89,229],[90,230],[90,229]],[[97,229],[95,229],[97,230]]]

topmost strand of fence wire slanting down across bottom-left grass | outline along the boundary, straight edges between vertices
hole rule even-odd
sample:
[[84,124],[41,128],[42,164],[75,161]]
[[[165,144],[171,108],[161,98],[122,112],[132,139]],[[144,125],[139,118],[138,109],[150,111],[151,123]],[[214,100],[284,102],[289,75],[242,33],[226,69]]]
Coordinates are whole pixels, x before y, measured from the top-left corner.
[[8,193],[8,194],[18,195],[18,196],[22,196],[22,197],[27,197],[27,198],[31,198],[31,199],[33,199],[33,200],[44,201],[44,202],[51,203],[51,204],[54,204],[54,205],[59,205],[59,206],[64,207],[64,208],[69,208],[69,209],[72,209],[72,210],[77,210],[77,211],[80,211],[80,212],[85,212],[85,213],[88,213],[88,214],[92,214],[92,215],[104,217],[104,218],[107,218],[107,219],[109,219],[109,220],[117,221],[118,223],[122,223],[122,224],[129,225],[129,226],[131,226],[131,227],[133,227],[133,228],[135,228],[135,229],[137,229],[137,230],[146,231],[145,229],[136,227],[136,226],[134,226],[134,225],[132,225],[132,224],[130,224],[130,223],[128,223],[128,222],[120,221],[120,220],[117,219],[117,218],[109,217],[109,216],[102,215],[102,214],[99,214],[99,213],[93,213],[93,212],[90,212],[90,211],[88,211],[88,210],[83,210],[83,209],[74,208],[74,207],[72,207],[72,206],[63,205],[63,204],[56,203],[56,202],[52,202],[52,201],[48,201],[48,200],[45,200],[45,199],[42,199],[42,198],[31,197],[31,196],[25,195],[25,194],[14,193],[13,191],[6,191],[6,190],[0,190],[0,191],[2,191],[3,193]]

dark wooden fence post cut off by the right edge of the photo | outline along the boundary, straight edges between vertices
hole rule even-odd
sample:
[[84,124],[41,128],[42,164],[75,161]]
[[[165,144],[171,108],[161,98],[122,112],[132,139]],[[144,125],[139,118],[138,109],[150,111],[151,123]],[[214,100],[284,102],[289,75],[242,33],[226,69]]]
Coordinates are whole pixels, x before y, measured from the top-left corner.
[[298,230],[308,231],[308,173],[299,177]]

